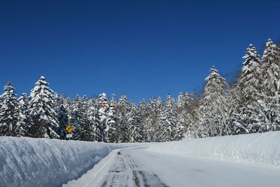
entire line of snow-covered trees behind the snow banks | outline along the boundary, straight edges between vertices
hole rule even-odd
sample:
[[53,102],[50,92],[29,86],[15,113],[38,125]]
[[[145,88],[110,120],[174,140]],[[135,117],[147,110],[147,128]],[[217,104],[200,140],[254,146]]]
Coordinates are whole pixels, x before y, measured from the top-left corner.
[[41,76],[31,94],[17,97],[8,82],[0,96],[0,135],[105,142],[175,141],[280,130],[280,48],[272,40],[262,57],[253,45],[244,55],[236,83],[215,69],[205,78],[202,95],[180,93],[142,99],[105,94],[88,98],[52,91]]

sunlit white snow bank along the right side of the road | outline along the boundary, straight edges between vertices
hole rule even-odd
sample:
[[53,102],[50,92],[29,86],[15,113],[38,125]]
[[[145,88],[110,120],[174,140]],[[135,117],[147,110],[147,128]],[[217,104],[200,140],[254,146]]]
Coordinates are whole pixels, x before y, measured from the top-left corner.
[[148,151],[215,158],[230,162],[258,162],[280,166],[280,132],[189,139],[152,144]]

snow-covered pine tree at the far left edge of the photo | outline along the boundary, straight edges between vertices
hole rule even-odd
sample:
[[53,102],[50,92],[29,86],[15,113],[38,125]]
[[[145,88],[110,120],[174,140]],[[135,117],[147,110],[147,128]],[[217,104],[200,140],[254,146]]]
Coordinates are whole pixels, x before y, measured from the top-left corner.
[[15,88],[10,81],[4,86],[5,92],[1,95],[2,106],[0,109],[0,136],[22,136],[18,126],[18,102]]

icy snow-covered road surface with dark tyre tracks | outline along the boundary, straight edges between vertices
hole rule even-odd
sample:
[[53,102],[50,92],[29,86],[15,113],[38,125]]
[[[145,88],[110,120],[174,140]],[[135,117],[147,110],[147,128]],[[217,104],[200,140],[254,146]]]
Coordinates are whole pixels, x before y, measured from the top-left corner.
[[123,148],[112,151],[87,174],[64,186],[279,187],[279,176],[279,167]]

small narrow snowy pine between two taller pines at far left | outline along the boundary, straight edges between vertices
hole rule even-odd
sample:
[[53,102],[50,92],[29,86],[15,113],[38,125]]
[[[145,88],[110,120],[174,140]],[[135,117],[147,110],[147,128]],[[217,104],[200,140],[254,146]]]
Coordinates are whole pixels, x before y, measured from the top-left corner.
[[18,98],[18,127],[20,127],[21,135],[24,137],[32,137],[29,130],[32,126],[32,119],[29,115],[29,97],[23,93]]

